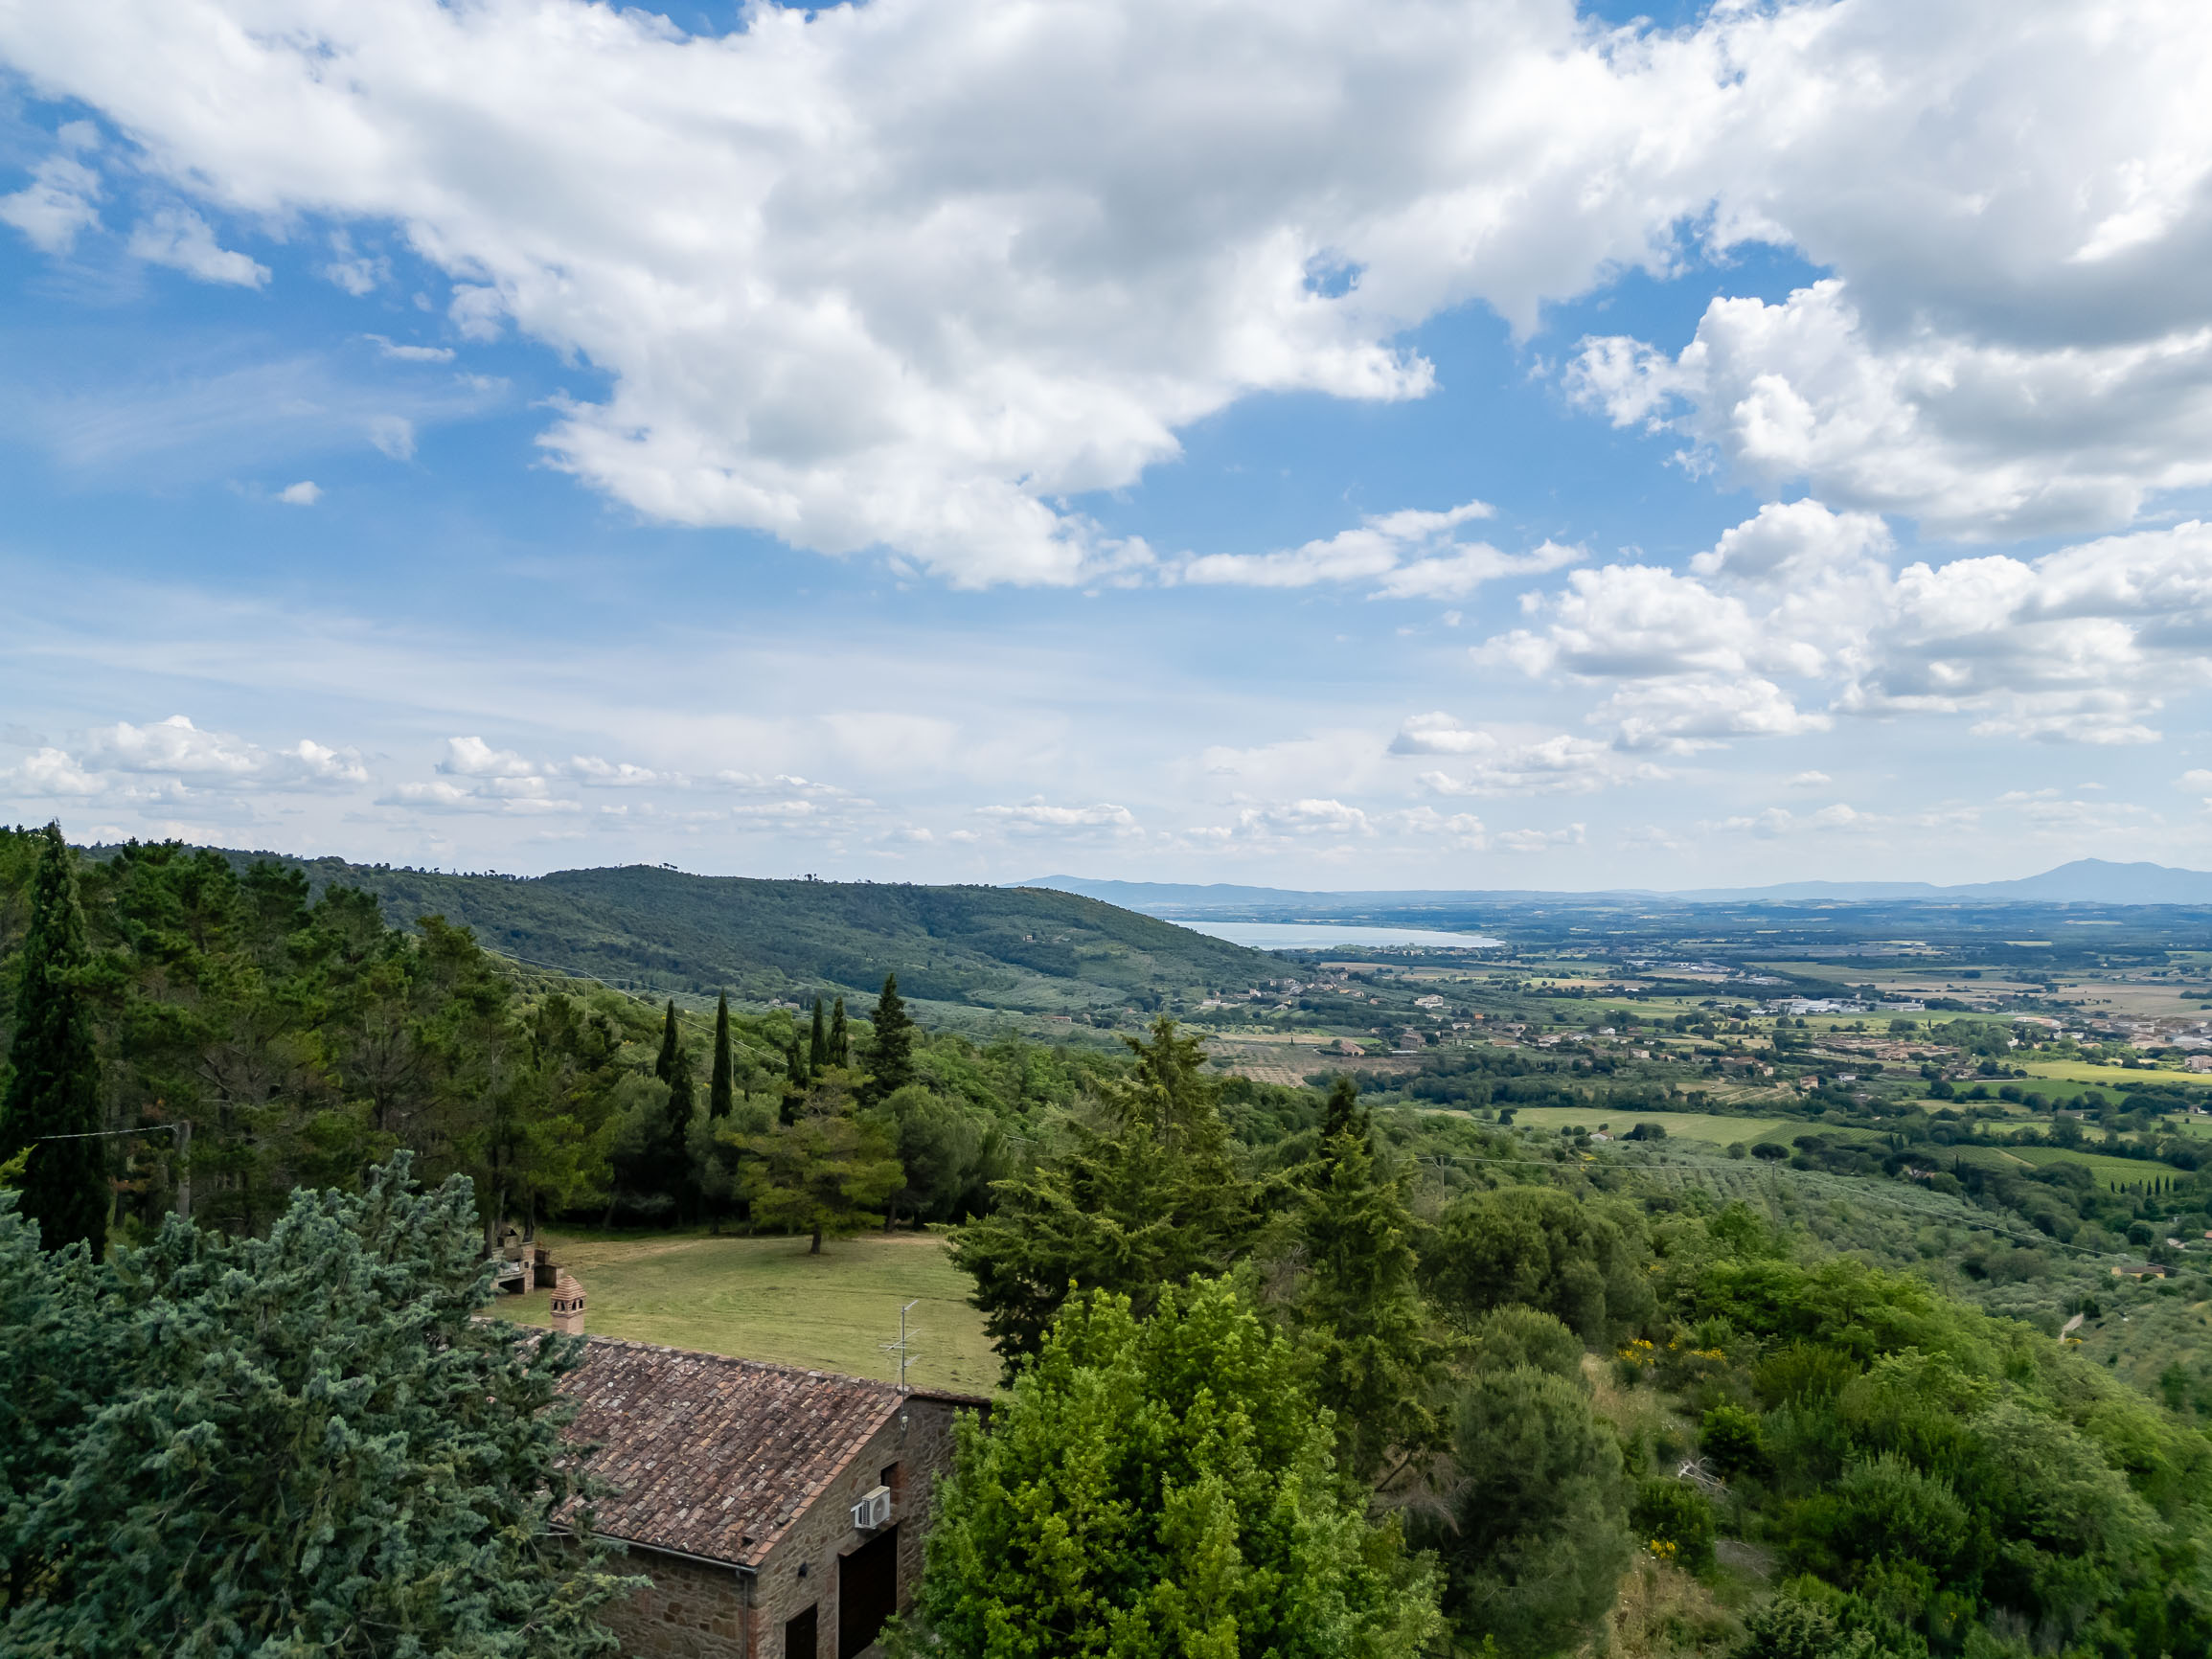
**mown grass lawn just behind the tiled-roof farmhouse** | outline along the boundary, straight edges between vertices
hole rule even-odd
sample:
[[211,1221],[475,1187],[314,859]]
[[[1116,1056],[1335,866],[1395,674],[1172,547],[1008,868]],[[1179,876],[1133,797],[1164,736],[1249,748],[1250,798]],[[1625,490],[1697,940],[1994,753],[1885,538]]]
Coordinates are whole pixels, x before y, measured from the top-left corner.
[[[969,1307],[969,1279],[938,1234],[867,1232],[810,1256],[805,1239],[699,1234],[542,1234],[553,1261],[584,1283],[584,1329],[849,1376],[891,1378],[898,1310],[914,1340],[909,1383],[989,1394],[998,1356]],[[544,1325],[551,1292],[500,1296],[491,1312]]]

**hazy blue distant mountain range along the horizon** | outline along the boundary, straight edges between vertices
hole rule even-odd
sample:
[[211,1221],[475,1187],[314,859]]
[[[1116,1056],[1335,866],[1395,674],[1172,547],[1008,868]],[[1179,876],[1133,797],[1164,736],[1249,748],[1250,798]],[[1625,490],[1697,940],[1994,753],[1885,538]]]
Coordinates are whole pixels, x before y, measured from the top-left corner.
[[1416,911],[1451,909],[1460,905],[1528,905],[1557,900],[1588,900],[1601,896],[1635,898],[1661,905],[1756,905],[1774,902],[1851,902],[1851,900],[1913,900],[1931,902],[2006,902],[2022,905],[2212,905],[2212,872],[2172,869],[2170,865],[2117,865],[2106,858],[2075,858],[2070,865],[2046,869],[2042,876],[2020,880],[1975,880],[1958,887],[1938,887],[1924,880],[1790,880],[1772,887],[1694,887],[1688,891],[1652,891],[1646,887],[1615,887],[1601,891],[1533,891],[1533,889],[1376,889],[1345,894],[1310,894],[1290,887],[1234,887],[1181,885],[1152,880],[1088,880],[1084,876],[1037,876],[1015,883],[1018,887],[1051,887],[1062,894],[1082,894],[1108,905],[1144,911],[1148,916],[1223,916],[1298,911],[1305,916],[1327,916],[1334,911]]

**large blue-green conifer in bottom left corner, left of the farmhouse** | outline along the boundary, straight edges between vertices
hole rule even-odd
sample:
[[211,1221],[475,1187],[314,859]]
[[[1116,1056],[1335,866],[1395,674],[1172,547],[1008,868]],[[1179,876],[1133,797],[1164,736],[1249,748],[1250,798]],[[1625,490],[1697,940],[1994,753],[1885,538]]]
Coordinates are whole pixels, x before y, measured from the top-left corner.
[[613,1650],[555,1396],[582,1340],[491,1301],[465,1179],[407,1157],[265,1239],[170,1219],[51,1259],[0,1194],[0,1584],[20,1655]]

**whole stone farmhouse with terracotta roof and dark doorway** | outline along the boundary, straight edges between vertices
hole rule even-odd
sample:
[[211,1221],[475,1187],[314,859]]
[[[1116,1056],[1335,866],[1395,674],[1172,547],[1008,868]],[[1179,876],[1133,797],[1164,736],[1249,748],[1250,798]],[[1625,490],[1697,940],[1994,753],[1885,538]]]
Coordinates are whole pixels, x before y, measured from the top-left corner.
[[562,1380],[650,1590],[602,1617],[637,1659],[876,1659],[922,1575],[969,1394],[588,1338]]

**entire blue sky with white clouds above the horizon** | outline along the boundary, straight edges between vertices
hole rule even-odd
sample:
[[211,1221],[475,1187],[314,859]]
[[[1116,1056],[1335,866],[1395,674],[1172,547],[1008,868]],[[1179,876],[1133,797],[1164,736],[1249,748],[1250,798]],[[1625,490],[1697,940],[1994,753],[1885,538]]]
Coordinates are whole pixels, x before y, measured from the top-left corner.
[[2212,867],[2201,0],[0,0],[0,818]]

